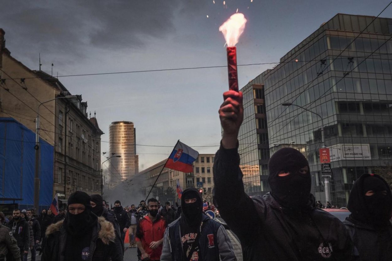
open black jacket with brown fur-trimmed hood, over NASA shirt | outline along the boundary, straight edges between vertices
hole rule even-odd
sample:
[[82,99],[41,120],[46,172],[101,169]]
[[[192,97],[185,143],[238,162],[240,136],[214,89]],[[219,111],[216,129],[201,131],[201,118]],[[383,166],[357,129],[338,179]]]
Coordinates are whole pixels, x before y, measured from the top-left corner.
[[[42,261],[64,261],[67,230],[63,226],[63,222],[64,220],[59,221],[47,228],[47,240],[41,257]],[[113,225],[103,217],[98,217],[93,228],[89,260],[122,261],[122,252],[118,252],[114,244],[115,237]]]

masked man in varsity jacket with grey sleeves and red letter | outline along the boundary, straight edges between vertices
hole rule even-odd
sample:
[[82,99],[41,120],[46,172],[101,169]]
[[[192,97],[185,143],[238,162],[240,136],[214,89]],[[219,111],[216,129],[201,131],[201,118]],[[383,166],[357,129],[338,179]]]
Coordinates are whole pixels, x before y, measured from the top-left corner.
[[226,230],[203,213],[203,199],[196,188],[181,196],[181,217],[163,236],[161,261],[236,261]]

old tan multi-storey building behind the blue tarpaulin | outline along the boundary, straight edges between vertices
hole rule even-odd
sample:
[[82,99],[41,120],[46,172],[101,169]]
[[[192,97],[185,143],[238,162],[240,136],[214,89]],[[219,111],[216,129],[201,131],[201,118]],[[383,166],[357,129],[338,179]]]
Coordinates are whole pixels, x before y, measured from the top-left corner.
[[87,102],[81,95],[65,98],[70,93],[57,78],[13,58],[5,48],[4,34],[0,29],[0,116],[14,118],[35,132],[37,108],[43,103],[39,132],[54,147],[53,197],[57,194],[66,202],[76,190],[100,193],[103,132],[96,118],[87,117]]

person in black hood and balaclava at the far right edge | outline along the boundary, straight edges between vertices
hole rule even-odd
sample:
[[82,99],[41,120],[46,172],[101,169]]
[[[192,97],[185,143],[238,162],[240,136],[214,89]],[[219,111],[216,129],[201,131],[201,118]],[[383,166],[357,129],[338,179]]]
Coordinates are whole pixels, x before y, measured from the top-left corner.
[[363,174],[348,198],[351,214],[343,222],[361,261],[392,260],[392,193],[383,178]]

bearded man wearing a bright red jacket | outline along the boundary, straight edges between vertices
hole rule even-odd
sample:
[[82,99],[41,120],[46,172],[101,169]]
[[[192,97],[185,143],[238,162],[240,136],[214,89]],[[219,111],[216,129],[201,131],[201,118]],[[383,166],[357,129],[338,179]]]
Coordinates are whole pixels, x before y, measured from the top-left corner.
[[158,200],[147,201],[149,214],[139,221],[136,228],[136,245],[142,252],[143,260],[159,260],[162,254],[163,234],[166,222],[158,215]]

